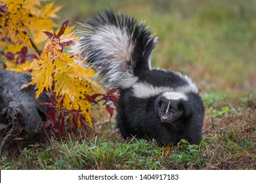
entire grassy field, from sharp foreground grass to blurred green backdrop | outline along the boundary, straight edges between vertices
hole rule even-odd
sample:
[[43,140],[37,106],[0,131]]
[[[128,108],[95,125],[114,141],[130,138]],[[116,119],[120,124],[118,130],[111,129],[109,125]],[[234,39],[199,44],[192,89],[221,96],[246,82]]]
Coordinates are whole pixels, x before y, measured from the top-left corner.
[[71,24],[107,8],[146,20],[160,37],[155,67],[190,75],[205,103],[203,141],[171,148],[124,143],[114,119],[93,110],[87,139],[49,137],[1,169],[256,169],[256,3],[249,1],[56,1]]

